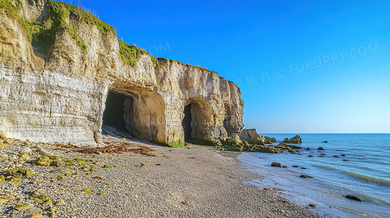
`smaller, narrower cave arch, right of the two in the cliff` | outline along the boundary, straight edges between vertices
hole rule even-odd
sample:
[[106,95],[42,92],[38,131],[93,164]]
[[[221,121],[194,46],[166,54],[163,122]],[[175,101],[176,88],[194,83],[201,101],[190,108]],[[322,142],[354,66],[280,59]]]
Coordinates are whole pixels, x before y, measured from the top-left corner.
[[209,103],[201,98],[190,98],[184,104],[183,113],[184,141],[198,144],[210,141],[213,113]]

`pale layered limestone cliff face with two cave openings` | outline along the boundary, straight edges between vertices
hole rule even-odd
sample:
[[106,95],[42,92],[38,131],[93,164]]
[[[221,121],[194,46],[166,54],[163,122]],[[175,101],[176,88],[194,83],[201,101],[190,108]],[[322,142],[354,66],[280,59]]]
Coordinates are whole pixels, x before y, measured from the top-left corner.
[[[47,17],[55,8],[47,0],[9,2],[18,15],[0,8],[0,130],[7,137],[100,143],[102,124],[115,120],[131,135],[161,144],[184,141],[183,129],[185,140],[239,140],[240,90],[216,72],[145,52],[124,64],[116,34],[64,3],[56,5],[70,12],[52,44],[36,44],[21,23],[52,29]],[[105,114],[109,93],[117,110]]]

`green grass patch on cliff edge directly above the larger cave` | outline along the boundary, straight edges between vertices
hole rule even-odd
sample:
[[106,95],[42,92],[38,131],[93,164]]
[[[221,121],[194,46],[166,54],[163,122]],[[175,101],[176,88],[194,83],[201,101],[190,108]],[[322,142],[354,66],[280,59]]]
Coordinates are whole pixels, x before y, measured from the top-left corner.
[[123,64],[134,66],[137,58],[142,54],[148,54],[153,62],[153,67],[157,66],[157,58],[150,55],[147,51],[142,48],[138,48],[135,45],[127,44],[126,42],[118,39],[119,43],[119,57]]

